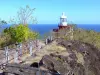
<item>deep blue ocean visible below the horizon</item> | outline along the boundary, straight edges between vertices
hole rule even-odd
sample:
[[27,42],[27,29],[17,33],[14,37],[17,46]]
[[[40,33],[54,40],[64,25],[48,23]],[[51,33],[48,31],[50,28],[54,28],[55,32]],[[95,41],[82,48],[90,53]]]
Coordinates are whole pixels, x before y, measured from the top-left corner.
[[[3,25],[2,29],[9,27],[10,25]],[[100,32],[100,24],[77,24],[78,28],[83,28],[85,30],[94,30]],[[52,29],[58,28],[58,24],[30,24],[29,28],[33,31],[40,33],[40,35],[48,34]]]

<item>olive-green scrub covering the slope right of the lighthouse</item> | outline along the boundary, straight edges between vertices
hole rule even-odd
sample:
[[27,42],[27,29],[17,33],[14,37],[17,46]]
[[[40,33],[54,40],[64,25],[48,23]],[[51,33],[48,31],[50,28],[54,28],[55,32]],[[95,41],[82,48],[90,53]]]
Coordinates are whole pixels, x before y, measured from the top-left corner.
[[95,32],[93,30],[75,29],[74,40],[87,42],[100,48],[100,32]]

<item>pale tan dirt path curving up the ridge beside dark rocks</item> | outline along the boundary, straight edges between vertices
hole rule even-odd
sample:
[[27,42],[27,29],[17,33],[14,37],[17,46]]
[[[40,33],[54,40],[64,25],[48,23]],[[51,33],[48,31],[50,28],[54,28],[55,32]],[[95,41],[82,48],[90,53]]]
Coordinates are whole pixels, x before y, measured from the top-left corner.
[[33,62],[39,62],[44,55],[49,55],[50,53],[60,53],[60,54],[66,54],[66,49],[58,46],[55,41],[52,43],[45,45],[43,48],[34,51],[33,56],[29,56],[25,59],[24,64],[32,64]]

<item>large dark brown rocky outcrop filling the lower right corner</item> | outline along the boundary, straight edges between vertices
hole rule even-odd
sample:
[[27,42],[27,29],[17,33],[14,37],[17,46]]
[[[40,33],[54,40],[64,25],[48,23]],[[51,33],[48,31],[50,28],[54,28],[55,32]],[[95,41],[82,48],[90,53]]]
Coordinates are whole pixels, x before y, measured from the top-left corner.
[[100,51],[93,45],[80,41],[57,41],[69,55],[45,55],[40,65],[61,75],[100,75]]

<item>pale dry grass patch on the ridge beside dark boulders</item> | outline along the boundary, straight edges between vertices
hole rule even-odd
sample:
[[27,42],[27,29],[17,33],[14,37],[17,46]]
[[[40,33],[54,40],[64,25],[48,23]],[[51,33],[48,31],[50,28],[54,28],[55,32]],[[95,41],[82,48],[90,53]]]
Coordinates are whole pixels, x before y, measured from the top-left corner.
[[66,48],[58,46],[57,43],[54,41],[51,44],[46,45],[40,51],[36,52],[36,57],[33,59],[33,62],[39,62],[44,55],[49,55],[50,53],[59,53],[66,55]]

